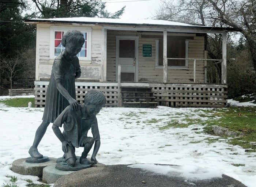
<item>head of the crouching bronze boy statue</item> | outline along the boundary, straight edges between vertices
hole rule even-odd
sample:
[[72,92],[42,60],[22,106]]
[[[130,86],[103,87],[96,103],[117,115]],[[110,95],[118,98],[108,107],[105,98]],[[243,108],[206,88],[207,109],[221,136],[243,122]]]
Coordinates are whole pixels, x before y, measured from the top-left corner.
[[84,106],[86,108],[86,113],[90,117],[95,117],[105,104],[105,95],[96,89],[91,89],[84,96]]

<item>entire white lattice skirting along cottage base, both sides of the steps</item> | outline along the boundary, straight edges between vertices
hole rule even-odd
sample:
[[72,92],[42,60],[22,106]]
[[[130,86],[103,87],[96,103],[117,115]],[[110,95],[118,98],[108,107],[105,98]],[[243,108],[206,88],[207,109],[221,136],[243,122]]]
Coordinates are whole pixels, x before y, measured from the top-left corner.
[[[35,81],[35,106],[44,107],[47,81]],[[169,107],[224,107],[227,103],[227,85],[222,84],[151,84],[121,83],[122,86],[151,87],[157,105]],[[106,107],[117,107],[117,83],[76,83],[76,99],[83,103],[90,89],[98,89],[106,96]],[[120,99],[120,98],[119,98]],[[120,99],[121,100],[121,99]]]

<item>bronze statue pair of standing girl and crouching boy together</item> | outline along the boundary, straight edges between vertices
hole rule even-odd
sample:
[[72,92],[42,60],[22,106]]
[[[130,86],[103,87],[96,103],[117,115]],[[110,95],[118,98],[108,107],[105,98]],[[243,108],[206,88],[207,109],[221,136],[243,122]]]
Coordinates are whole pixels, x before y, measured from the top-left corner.
[[[100,146],[100,136],[96,114],[106,103],[102,92],[90,90],[84,97],[84,105],[76,101],[75,79],[81,75],[79,59],[76,56],[84,44],[84,36],[78,30],[70,30],[63,35],[61,45],[65,47],[54,60],[49,85],[46,92],[45,109],[42,123],[38,127],[29,154],[33,159],[41,159],[38,152],[39,142],[42,140],[47,127],[53,123],[52,129],[62,142],[63,159],[73,167],[76,162],[75,148],[84,147],[80,163],[84,165],[96,164],[96,154]],[[63,125],[64,124],[64,125]],[[59,127],[63,125],[61,133]],[[88,130],[92,130],[93,137],[87,137]],[[87,154],[94,150],[91,161]]]

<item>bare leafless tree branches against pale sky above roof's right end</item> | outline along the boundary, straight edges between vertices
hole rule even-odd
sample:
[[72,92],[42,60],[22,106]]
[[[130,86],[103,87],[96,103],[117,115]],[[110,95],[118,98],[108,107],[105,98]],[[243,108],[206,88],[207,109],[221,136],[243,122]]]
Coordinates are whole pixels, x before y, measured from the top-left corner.
[[256,0],[162,0],[155,18],[240,28],[256,71]]

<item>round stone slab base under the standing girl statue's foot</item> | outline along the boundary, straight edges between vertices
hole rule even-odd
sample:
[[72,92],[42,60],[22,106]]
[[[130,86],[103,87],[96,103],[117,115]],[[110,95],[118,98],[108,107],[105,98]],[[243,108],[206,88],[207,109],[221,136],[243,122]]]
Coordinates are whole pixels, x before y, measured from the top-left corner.
[[42,178],[43,169],[49,165],[54,165],[55,167],[57,159],[49,158],[49,161],[44,163],[27,163],[25,160],[25,158],[15,160],[12,163],[12,171],[21,175],[33,175]]

